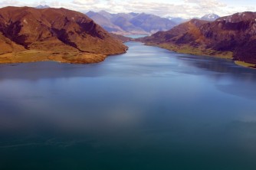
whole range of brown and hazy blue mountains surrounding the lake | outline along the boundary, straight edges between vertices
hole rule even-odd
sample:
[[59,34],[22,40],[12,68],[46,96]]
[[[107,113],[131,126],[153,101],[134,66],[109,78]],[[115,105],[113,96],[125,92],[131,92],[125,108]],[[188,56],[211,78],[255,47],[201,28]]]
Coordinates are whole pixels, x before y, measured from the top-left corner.
[[[103,28],[87,15],[100,21]],[[203,19],[192,19],[176,26],[167,18],[144,13],[113,15],[107,11],[90,11],[87,15],[47,6],[0,8],[0,63],[100,62],[107,55],[125,53],[127,47],[122,41],[131,40],[107,31],[119,34],[157,31],[138,41],[180,53],[256,64],[256,12],[246,11],[222,18],[205,15]],[[169,31],[165,31],[167,26],[171,28]]]

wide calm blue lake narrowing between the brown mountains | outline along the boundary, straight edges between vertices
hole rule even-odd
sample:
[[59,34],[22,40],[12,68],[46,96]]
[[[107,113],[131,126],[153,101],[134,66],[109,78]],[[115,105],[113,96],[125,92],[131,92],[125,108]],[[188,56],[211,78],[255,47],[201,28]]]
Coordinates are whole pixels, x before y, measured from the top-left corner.
[[100,64],[0,64],[0,169],[256,169],[256,70],[126,45]]

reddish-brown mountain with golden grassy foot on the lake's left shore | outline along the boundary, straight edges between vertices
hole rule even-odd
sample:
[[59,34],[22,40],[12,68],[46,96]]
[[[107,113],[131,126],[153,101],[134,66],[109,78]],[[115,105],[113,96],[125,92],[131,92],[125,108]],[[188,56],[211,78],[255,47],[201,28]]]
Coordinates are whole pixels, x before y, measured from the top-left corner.
[[0,8],[0,63],[94,63],[126,51],[86,15],[65,8]]

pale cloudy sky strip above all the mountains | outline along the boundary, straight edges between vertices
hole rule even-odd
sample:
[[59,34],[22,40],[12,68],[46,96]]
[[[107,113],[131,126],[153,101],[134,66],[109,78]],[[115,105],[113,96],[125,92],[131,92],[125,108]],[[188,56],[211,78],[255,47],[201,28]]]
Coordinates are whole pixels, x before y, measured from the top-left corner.
[[145,12],[162,17],[193,18],[215,13],[220,16],[256,11],[255,0],[0,0],[5,6],[49,5],[76,11]]

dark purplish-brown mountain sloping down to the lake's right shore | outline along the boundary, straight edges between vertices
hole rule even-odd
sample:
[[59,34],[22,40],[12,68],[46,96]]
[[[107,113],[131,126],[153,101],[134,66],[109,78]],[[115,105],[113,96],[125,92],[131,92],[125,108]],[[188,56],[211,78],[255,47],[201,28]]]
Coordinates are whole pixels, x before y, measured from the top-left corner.
[[212,22],[192,19],[140,41],[181,53],[256,64],[256,12],[236,13]]

